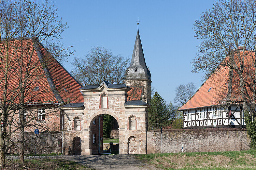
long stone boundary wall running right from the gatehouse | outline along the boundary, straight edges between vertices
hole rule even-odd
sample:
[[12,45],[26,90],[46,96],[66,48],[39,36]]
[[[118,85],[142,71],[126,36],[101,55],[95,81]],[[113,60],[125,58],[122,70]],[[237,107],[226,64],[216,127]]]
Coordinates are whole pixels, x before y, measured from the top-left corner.
[[[162,130],[163,153],[249,150],[246,129]],[[161,153],[160,130],[147,131],[147,153]]]

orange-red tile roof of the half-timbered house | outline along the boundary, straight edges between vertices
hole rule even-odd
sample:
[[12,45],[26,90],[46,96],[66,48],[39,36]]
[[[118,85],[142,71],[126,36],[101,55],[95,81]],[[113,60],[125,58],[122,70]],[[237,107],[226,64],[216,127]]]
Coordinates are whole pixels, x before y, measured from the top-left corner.
[[[243,51],[240,51],[242,54]],[[249,72],[252,70],[252,65],[250,63],[252,60],[252,52],[247,51],[247,55],[245,55],[245,68]],[[254,54],[253,54],[254,56]],[[225,61],[228,61],[226,58]],[[236,63],[239,63],[238,57],[236,57]],[[247,75],[244,75],[244,79],[247,79]],[[229,79],[230,78],[230,79]],[[231,81],[231,94],[228,97],[228,84]],[[250,80],[248,80],[250,82]],[[211,89],[210,89],[211,88]],[[209,91],[210,90],[210,91]],[[249,94],[252,94],[250,90]],[[221,69],[216,69],[210,77],[202,84],[202,86],[196,91],[194,96],[192,96],[183,106],[179,108],[179,111],[198,108],[198,107],[207,107],[214,105],[221,105],[227,102],[227,99],[230,99],[232,103],[241,103],[241,92],[239,90],[239,77],[238,73],[234,70],[229,69],[228,66],[223,67]]]

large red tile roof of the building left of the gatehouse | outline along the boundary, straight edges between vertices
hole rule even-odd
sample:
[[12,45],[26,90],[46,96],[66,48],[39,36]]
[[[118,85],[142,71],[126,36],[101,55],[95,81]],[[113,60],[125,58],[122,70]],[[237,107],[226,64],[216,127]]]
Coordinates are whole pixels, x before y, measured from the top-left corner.
[[[6,56],[6,48],[3,48],[2,56]],[[23,78],[25,77],[26,66],[29,70],[27,87],[25,89],[25,102],[28,103],[49,103],[49,102],[83,102],[83,96],[79,90],[82,86],[65,70],[57,60],[41,45],[34,50],[32,39],[14,40],[8,51],[10,69],[8,71],[8,99],[19,103],[19,84],[21,67]],[[0,87],[3,89],[4,64],[6,57],[0,58]],[[23,80],[24,82],[24,80]],[[34,90],[39,87],[38,90]],[[65,90],[66,89],[66,90]],[[16,91],[15,91],[16,90]],[[2,95],[3,93],[1,93]],[[14,97],[17,95],[17,97]],[[1,100],[3,96],[0,96]]]

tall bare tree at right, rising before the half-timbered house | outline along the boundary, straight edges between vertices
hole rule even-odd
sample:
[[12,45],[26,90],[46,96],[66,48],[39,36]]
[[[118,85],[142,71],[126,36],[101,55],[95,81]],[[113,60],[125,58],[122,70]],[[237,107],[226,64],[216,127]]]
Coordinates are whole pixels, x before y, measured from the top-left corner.
[[[237,103],[244,113],[252,113],[255,127],[256,96],[256,1],[216,1],[213,8],[203,12],[195,22],[195,37],[203,41],[193,61],[193,71],[204,71],[205,78],[212,72],[229,70],[228,89],[224,89],[223,103]],[[225,80],[226,81],[226,80]],[[232,88],[236,87],[236,88]],[[232,95],[231,95],[232,93]],[[226,101],[225,101],[226,100]],[[248,119],[250,120],[250,119]],[[247,124],[247,122],[246,122]],[[254,137],[255,148],[256,138]]]

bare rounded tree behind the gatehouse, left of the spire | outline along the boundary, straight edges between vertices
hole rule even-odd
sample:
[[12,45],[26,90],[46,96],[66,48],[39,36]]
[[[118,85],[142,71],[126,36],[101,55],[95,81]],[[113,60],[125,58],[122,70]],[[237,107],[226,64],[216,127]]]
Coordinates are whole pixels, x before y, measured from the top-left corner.
[[124,83],[129,58],[120,54],[114,56],[104,47],[91,47],[85,58],[75,57],[71,71],[74,78],[85,85],[100,84],[103,80],[110,83]]

